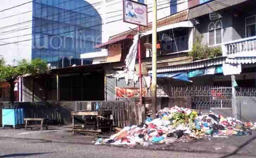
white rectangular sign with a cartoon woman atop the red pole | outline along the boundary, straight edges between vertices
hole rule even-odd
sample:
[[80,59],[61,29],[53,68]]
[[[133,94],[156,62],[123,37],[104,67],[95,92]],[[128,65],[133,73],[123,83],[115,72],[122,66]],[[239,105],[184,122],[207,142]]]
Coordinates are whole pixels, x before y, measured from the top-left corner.
[[132,0],[123,0],[123,21],[146,26],[148,23],[147,5]]

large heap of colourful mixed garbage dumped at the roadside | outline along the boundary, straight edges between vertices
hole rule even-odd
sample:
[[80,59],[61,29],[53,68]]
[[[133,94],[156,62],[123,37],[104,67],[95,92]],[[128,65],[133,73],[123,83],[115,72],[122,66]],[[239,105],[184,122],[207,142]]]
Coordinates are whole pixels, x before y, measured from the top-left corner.
[[98,139],[95,145],[143,145],[172,144],[189,141],[205,136],[227,137],[230,135],[247,135],[256,129],[256,124],[242,123],[231,117],[224,118],[215,113],[198,114],[189,108],[164,108],[158,118],[147,118],[145,123],[124,127],[109,139]]

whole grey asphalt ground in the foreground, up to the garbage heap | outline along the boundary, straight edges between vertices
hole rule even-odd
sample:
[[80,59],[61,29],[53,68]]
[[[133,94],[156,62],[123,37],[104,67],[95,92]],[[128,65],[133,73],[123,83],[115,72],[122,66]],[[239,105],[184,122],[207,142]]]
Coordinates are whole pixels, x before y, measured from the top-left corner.
[[255,158],[256,134],[205,138],[173,146],[96,146],[91,136],[75,135],[67,127],[48,131],[0,130],[0,158]]

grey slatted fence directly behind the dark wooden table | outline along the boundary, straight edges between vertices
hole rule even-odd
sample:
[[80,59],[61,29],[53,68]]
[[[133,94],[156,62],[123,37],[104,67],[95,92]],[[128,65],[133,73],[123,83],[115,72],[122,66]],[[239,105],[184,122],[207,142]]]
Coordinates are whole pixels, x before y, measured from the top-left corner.
[[113,115],[113,125],[118,127],[128,126],[129,102],[128,101],[77,101],[79,110],[111,111]]

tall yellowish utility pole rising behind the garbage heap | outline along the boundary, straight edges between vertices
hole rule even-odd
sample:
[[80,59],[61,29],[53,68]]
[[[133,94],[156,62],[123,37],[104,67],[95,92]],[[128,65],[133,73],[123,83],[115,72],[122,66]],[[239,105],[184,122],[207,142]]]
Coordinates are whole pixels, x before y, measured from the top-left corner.
[[157,13],[156,13],[156,0],[152,0],[153,5],[153,21],[152,21],[152,118],[156,118],[156,45],[157,45]]

